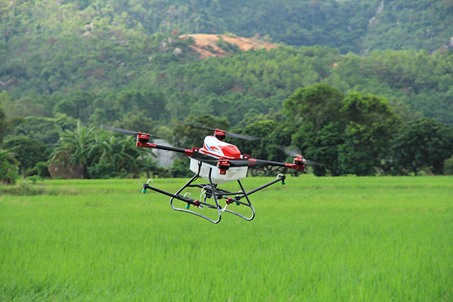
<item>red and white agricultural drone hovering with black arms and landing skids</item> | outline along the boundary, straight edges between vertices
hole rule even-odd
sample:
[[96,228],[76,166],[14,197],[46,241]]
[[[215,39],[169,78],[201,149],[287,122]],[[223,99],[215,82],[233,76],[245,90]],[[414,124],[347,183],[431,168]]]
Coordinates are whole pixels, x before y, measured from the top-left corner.
[[[305,170],[305,165],[321,165],[321,163],[309,161],[303,156],[295,153],[292,154],[292,156],[294,156],[292,163],[251,158],[251,156],[241,153],[241,151],[239,151],[239,149],[234,144],[226,143],[224,139],[226,138],[226,136],[248,140],[257,140],[260,139],[260,137],[251,137],[209,127],[200,128],[210,129],[214,131],[214,135],[205,137],[204,144],[201,148],[193,147],[192,149],[182,149],[173,146],[153,144],[149,141],[149,139],[150,137],[155,136],[148,133],[129,132],[123,129],[108,127],[108,129],[111,129],[113,131],[137,135],[136,146],[138,147],[160,149],[164,151],[182,153],[185,156],[188,156],[188,158],[190,158],[190,170],[195,173],[195,175],[188,182],[186,182],[185,185],[183,185],[183,187],[181,187],[176,193],[167,192],[165,190],[154,187],[154,181],[152,179],[149,179],[144,183],[142,192],[143,194],[145,194],[147,190],[153,190],[160,194],[171,197],[170,205],[172,209],[200,216],[201,218],[206,219],[207,221],[210,221],[212,223],[220,222],[220,220],[222,219],[222,212],[234,214],[241,217],[241,219],[251,221],[255,217],[255,209],[253,209],[253,206],[249,199],[250,195],[263,190],[265,187],[269,187],[270,185],[273,185],[277,182],[281,182],[282,185],[285,185],[286,176],[280,173],[277,175],[275,180],[267,182],[264,185],[260,185],[253,190],[246,191],[243,188],[241,179],[246,178],[248,167],[270,165],[283,168],[291,168],[294,170]],[[198,178],[202,178],[207,182],[203,184],[195,184],[195,180],[197,180]],[[219,187],[219,185],[234,181],[236,181],[239,185],[240,190],[238,189],[237,192],[230,192]],[[151,185],[149,182],[151,182]],[[200,199],[193,199],[189,193],[181,194],[181,192],[183,192],[183,190],[188,187],[200,188]],[[175,204],[173,204],[173,201],[175,199],[185,202],[185,208],[176,207]],[[219,201],[222,201],[222,204],[224,204],[223,207],[220,205]],[[248,207],[251,209],[251,214],[249,216],[244,216],[243,214],[240,214],[237,211],[231,209],[231,204]],[[202,214],[201,211],[193,211],[190,207],[195,207],[197,209],[206,208],[217,210],[217,215],[215,215],[217,216],[217,219],[212,219],[205,214]]]

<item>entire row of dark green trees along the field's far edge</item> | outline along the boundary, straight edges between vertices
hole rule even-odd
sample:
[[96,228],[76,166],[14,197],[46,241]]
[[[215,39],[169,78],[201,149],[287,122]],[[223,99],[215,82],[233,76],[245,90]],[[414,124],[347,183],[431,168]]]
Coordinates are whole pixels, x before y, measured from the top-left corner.
[[[367,93],[343,94],[338,88],[319,83],[299,88],[284,102],[281,120],[264,117],[246,127],[231,127],[228,119],[212,115],[190,115],[168,129],[176,146],[202,146],[209,131],[203,125],[261,137],[259,141],[229,139],[242,153],[271,161],[291,161],[283,146],[323,163],[315,175],[418,175],[453,173],[453,128],[430,118],[403,122],[386,98]],[[4,129],[13,127],[0,111]],[[21,121],[19,121],[21,122]],[[47,165],[84,165],[87,178],[137,177],[147,175],[187,176],[187,162],[176,161],[172,168],[159,168],[149,153],[134,146],[134,139],[117,137],[92,124],[60,115],[57,143],[22,136],[9,139],[0,152],[1,178],[14,182],[19,174],[46,175]],[[5,132],[2,133],[4,136]],[[0,137],[1,138],[1,137]],[[19,168],[21,167],[21,168]],[[277,169],[280,171],[280,169]],[[273,168],[252,170],[253,174],[276,173]]]

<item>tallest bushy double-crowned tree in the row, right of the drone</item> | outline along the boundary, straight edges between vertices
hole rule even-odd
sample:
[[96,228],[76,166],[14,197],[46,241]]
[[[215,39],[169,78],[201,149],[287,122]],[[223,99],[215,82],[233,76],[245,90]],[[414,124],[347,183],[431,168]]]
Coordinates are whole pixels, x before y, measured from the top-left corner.
[[326,84],[299,89],[285,100],[289,118],[301,117],[292,144],[315,166],[315,175],[373,175],[388,156],[389,137],[400,122],[385,98],[343,94]]

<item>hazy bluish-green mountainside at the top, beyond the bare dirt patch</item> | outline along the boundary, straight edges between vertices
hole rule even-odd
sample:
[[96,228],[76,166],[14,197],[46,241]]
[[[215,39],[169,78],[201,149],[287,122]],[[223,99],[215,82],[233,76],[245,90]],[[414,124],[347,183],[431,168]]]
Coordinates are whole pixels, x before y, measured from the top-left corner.
[[436,50],[449,44],[453,1],[427,0],[59,0],[2,1],[1,31],[15,36],[128,33],[257,33],[287,45],[342,53]]

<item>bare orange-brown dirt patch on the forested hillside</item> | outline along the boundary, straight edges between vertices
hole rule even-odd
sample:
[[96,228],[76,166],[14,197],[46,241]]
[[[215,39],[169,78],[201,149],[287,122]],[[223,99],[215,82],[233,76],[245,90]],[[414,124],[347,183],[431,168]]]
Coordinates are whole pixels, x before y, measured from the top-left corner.
[[228,52],[222,49],[217,43],[220,37],[222,39],[231,44],[237,45],[240,50],[260,50],[265,48],[266,50],[270,50],[271,48],[278,47],[275,44],[263,42],[256,38],[249,39],[247,37],[231,37],[229,35],[207,35],[207,34],[193,34],[193,35],[180,35],[180,39],[187,39],[188,37],[192,37],[195,40],[195,46],[190,45],[190,48],[195,52],[198,52],[202,59],[207,57],[224,57]]

